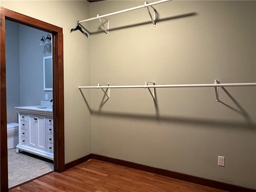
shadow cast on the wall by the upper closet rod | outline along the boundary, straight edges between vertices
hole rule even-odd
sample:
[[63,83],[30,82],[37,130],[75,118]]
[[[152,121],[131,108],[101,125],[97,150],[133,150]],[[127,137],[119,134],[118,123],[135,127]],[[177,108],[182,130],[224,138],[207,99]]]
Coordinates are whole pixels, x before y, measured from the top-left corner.
[[[166,17],[166,18],[159,19],[159,18],[158,18],[159,15],[156,14],[156,23],[157,23],[157,22],[166,21],[166,20],[173,20],[173,19],[179,19],[179,18],[184,18],[184,17],[189,17],[189,16],[195,16],[195,15],[197,15],[196,12],[191,12],[191,13],[186,13],[186,14],[181,14],[181,15],[177,15],[177,16],[171,16],[171,17]],[[111,29],[109,29],[108,31],[120,30],[120,29],[124,29],[124,28],[136,27],[136,26],[141,26],[141,25],[146,25],[146,24],[152,24],[152,21],[141,22],[141,23],[126,25],[126,26],[111,28]],[[82,26],[82,25],[80,24],[80,26]],[[88,34],[90,34],[90,35],[99,34],[99,33],[105,32],[104,29],[102,28],[102,25],[100,25],[100,26],[98,27],[98,31],[94,31],[94,32],[88,31],[84,26],[82,26],[82,28],[83,28],[86,32],[88,32]]]

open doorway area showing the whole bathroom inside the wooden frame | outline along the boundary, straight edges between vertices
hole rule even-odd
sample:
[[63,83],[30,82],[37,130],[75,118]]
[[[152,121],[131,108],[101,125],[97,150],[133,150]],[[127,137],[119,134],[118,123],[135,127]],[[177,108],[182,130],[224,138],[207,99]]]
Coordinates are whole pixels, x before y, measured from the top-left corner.
[[[47,117],[52,119],[52,111],[48,111],[52,110],[52,44],[51,41],[39,43],[44,37],[50,40],[52,34],[9,20],[5,21],[5,31],[8,188],[12,188],[54,170],[53,135],[48,134],[48,129],[53,130],[50,122],[46,118],[40,121],[39,148],[34,145],[36,143],[30,143],[37,138],[36,132],[34,135],[30,133],[35,127],[28,129],[31,118],[20,121],[20,125],[25,123],[26,126],[20,126],[19,135],[17,116],[17,112],[20,114],[17,107],[48,105],[48,108],[39,108],[35,112],[42,113],[41,118],[46,117],[44,114],[47,112],[51,114]],[[26,112],[36,115],[28,110],[22,114]],[[35,124],[38,122],[34,121]],[[34,155],[38,152],[42,154]],[[46,154],[50,157],[43,158]]]

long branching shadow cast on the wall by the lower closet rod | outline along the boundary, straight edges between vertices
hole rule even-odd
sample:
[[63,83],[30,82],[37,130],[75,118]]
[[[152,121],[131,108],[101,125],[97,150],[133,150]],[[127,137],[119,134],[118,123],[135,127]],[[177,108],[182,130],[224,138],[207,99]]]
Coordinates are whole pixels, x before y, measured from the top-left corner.
[[[228,104],[225,104],[222,101],[219,101],[221,104],[224,104],[228,108],[234,110],[238,114],[244,116],[245,122],[234,122],[234,121],[225,121],[225,120],[210,120],[210,119],[201,119],[201,118],[184,118],[184,117],[174,117],[174,116],[160,116],[157,107],[157,101],[155,103],[156,115],[142,115],[142,114],[134,114],[134,113],[116,113],[116,112],[102,112],[102,106],[107,102],[108,99],[105,100],[106,94],[104,94],[102,98],[102,102],[100,104],[99,110],[93,110],[90,108],[84,93],[81,89],[80,92],[84,99],[84,102],[92,115],[106,116],[111,118],[126,118],[126,119],[137,119],[137,120],[147,120],[147,121],[160,121],[160,122],[171,122],[171,123],[182,123],[182,124],[195,124],[198,126],[220,126],[220,127],[228,127],[228,128],[249,128],[255,129],[256,124],[252,122],[248,113],[242,108],[242,106],[231,96],[231,94],[222,87],[224,92],[230,97],[230,99],[236,104],[239,109],[235,109]],[[107,90],[106,90],[107,91]]]

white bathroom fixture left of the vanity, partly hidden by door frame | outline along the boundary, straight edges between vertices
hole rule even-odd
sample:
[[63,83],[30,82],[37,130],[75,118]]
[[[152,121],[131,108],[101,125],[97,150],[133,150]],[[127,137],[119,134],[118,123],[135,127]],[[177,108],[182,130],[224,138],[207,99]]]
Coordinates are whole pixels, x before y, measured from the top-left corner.
[[7,124],[7,149],[16,148],[19,142],[19,124],[8,123]]

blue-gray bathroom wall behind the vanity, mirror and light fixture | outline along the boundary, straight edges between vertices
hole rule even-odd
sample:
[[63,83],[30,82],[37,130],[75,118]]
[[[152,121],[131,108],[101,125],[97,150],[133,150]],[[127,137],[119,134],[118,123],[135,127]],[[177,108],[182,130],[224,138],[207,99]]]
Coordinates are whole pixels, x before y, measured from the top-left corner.
[[20,25],[20,105],[40,105],[41,100],[52,99],[52,91],[44,91],[43,57],[52,55],[45,46],[39,46],[42,36],[49,33]]

